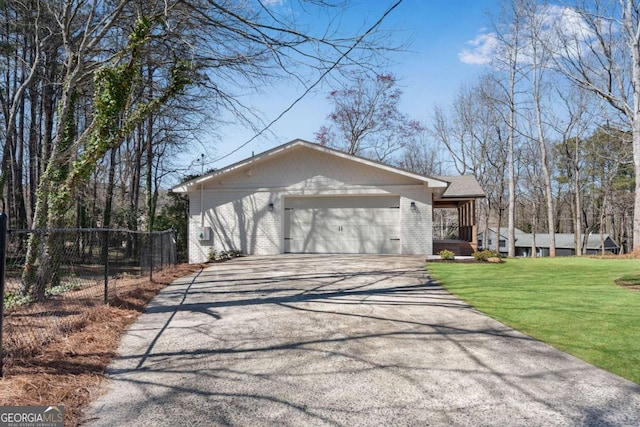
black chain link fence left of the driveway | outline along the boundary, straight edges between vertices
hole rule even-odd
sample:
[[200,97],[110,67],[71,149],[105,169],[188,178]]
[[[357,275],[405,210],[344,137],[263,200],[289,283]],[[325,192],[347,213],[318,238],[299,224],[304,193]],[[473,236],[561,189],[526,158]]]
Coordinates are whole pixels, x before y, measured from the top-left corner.
[[5,262],[0,352],[11,358],[77,329],[87,307],[117,297],[119,283],[174,267],[175,233],[8,230]]

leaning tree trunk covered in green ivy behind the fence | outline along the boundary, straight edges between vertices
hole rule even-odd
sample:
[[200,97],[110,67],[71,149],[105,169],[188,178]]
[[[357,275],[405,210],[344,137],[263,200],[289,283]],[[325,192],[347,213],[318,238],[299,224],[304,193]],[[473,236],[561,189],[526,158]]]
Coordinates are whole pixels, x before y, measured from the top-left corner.
[[[128,37],[126,47],[119,52],[113,65],[105,65],[94,73],[93,121],[82,135],[76,135],[75,108],[72,93],[66,104],[63,132],[58,135],[56,149],[43,173],[36,193],[35,216],[46,218],[48,229],[64,228],[65,213],[69,210],[75,189],[86,182],[100,159],[109,150],[115,150],[127,135],[171,98],[177,97],[190,83],[189,69],[181,61],[170,65],[171,79],[161,94],[145,102],[134,103],[136,82],[143,47],[151,37],[159,20],[140,17]],[[74,160],[73,144],[83,147]],[[45,211],[45,212],[43,212]],[[23,293],[30,292],[36,299],[44,296],[46,286],[59,282],[59,265],[63,241],[60,234],[49,233],[44,245],[37,233],[31,235],[25,268]]]

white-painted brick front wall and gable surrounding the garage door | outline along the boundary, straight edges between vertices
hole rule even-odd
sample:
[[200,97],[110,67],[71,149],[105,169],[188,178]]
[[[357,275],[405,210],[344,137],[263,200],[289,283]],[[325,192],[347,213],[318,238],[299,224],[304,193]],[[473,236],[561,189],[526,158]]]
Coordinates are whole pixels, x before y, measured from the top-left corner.
[[[189,262],[207,260],[209,252],[240,250],[245,254],[278,254],[283,250],[284,202],[287,196],[399,195],[401,251],[430,254],[432,190],[422,182],[304,147],[256,162],[202,190],[204,226],[210,241],[198,240],[200,189],[189,193]],[[411,210],[411,201],[417,209]],[[269,204],[274,204],[269,211]]]

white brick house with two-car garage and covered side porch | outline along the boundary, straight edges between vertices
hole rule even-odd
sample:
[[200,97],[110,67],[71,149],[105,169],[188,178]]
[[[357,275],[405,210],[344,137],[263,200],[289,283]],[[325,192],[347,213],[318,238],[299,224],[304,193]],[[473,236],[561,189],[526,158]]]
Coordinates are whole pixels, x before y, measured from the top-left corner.
[[[465,190],[466,189],[466,190]],[[211,251],[433,253],[432,209],[475,245],[473,177],[427,177],[302,140],[172,189],[189,196],[189,262]]]

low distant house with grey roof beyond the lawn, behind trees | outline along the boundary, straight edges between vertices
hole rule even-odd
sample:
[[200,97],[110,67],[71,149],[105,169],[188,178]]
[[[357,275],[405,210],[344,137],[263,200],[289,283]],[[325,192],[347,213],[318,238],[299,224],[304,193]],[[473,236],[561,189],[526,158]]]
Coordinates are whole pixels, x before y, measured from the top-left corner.
[[[530,233],[525,233],[522,230],[515,229],[516,235],[516,256],[531,256],[533,253],[533,236]],[[496,248],[496,239],[500,246],[500,253],[506,255],[508,252],[509,230],[506,227],[501,227],[500,232],[497,233],[495,228],[489,228],[486,232],[478,233],[478,248],[491,249]],[[581,242],[584,241],[584,234],[580,236]],[[536,256],[549,256],[549,234],[548,233],[536,233],[535,235],[535,247]],[[608,235],[603,234],[602,237],[599,233],[589,234],[586,245],[587,255],[597,255],[602,253],[602,242],[604,242],[605,252],[617,254],[620,252],[620,247],[617,243]],[[556,255],[557,256],[573,256],[576,254],[574,247],[574,234],[573,233],[556,233]]]

